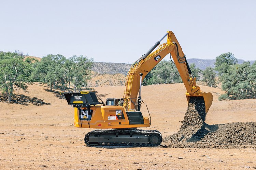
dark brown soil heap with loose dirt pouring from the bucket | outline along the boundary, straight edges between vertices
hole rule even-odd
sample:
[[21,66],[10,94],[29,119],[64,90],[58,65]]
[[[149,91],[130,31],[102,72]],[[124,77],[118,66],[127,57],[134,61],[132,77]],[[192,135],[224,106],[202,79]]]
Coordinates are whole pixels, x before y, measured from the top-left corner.
[[256,148],[256,122],[209,125],[203,97],[191,97],[179,132],[163,139],[170,148]]

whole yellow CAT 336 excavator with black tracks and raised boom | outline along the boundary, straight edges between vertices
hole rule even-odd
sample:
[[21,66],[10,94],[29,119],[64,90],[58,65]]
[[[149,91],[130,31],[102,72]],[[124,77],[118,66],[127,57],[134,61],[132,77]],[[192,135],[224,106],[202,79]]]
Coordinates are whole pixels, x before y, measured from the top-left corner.
[[[167,43],[160,45],[166,36]],[[157,46],[159,48],[155,50]],[[187,101],[192,97],[203,97],[205,113],[208,112],[213,96],[210,92],[202,92],[196,85],[196,78],[191,73],[179,42],[173,32],[168,31],[146,54],[132,64],[126,78],[123,98],[108,98],[104,103],[98,101],[97,91],[62,92],[68,104],[74,107],[75,127],[109,129],[87,133],[84,141],[88,146],[155,147],[161,144],[162,136],[159,131],[137,128],[151,125],[151,117],[143,117],[141,113],[141,104],[144,103],[141,98],[142,81],[167,54],[172,56],[181,75],[187,90]]]

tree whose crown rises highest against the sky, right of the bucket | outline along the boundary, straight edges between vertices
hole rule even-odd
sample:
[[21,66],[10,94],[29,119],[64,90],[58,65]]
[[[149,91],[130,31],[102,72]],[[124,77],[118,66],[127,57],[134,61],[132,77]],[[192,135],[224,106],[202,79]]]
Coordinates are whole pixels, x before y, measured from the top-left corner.
[[237,58],[231,52],[221,54],[216,57],[215,71],[218,71],[219,80],[223,80],[223,74],[227,72],[230,65],[237,64]]

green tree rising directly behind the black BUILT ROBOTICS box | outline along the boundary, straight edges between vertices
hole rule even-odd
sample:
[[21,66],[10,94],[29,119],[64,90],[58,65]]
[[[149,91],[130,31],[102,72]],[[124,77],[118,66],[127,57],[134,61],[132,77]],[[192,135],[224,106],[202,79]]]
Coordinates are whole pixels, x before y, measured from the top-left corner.
[[91,68],[93,68],[93,58],[87,58],[83,55],[72,56],[69,59],[70,62],[70,79],[74,91],[79,90],[81,87],[88,85],[87,80],[91,79]]

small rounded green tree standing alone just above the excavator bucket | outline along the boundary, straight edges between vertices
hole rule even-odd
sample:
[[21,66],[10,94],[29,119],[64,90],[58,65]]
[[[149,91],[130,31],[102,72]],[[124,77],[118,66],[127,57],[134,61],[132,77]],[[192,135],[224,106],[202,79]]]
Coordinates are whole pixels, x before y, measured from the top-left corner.
[[203,74],[203,82],[207,83],[207,86],[210,87],[215,87],[216,86],[216,73],[214,71],[214,68],[209,66],[207,68],[205,68],[205,70],[203,70],[202,72]]

